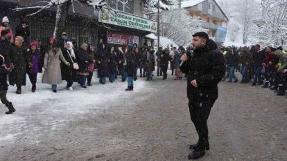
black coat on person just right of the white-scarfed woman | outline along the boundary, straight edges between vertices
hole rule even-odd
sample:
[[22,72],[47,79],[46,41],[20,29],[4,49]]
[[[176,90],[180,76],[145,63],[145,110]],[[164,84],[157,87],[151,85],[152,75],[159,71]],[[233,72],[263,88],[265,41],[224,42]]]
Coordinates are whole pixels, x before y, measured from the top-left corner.
[[76,52],[76,59],[78,61],[80,73],[89,73],[89,64],[92,63],[91,57],[89,57],[89,53],[86,50],[78,50]]

